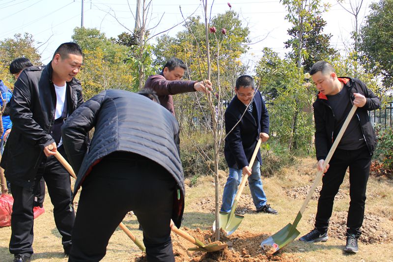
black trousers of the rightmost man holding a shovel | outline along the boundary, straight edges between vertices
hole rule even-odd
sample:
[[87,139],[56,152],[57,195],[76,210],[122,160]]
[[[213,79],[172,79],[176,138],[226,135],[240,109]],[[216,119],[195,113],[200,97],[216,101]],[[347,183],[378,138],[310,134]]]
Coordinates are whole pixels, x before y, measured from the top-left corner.
[[357,150],[337,149],[330,167],[322,178],[315,228],[327,232],[333,211],[334,198],[349,167],[349,203],[347,233],[360,235],[365,214],[365,191],[370,171],[371,156],[366,146]]

